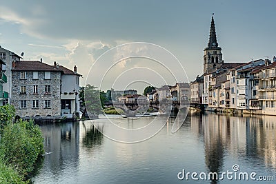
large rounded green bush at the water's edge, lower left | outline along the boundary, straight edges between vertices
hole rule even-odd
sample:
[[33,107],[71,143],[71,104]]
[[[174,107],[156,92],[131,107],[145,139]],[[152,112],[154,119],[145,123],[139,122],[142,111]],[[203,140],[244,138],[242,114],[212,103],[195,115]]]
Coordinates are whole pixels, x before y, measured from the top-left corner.
[[33,121],[19,120],[3,128],[0,155],[21,176],[32,172],[37,158],[44,153],[43,137]]

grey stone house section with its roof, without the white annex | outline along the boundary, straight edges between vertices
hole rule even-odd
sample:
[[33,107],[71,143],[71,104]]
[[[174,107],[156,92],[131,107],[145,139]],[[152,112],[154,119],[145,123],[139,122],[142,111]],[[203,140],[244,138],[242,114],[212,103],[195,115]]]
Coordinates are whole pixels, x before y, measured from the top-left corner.
[[12,63],[12,100],[16,114],[61,116],[61,72],[42,61]]

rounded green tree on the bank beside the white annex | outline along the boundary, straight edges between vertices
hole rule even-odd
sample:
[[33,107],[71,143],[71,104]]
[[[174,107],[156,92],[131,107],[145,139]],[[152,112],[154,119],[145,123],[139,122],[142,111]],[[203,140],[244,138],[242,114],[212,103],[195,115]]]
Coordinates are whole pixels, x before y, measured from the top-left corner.
[[91,114],[99,114],[103,109],[104,102],[107,100],[106,93],[97,90],[93,85],[86,85],[79,90],[79,98]]

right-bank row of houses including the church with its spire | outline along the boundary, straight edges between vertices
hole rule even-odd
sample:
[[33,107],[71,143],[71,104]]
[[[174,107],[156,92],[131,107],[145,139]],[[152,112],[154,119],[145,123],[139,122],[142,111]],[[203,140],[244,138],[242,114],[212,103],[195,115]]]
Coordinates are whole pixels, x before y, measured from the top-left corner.
[[225,63],[212,17],[208,46],[204,49],[204,74],[190,83],[190,102],[204,104],[207,110],[275,115],[276,58],[273,62],[258,59]]

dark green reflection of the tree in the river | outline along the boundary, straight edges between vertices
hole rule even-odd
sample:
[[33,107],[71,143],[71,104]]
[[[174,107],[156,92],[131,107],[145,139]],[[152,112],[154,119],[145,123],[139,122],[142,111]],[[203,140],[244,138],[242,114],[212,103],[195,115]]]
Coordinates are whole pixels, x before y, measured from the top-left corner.
[[[85,136],[83,136],[82,143],[90,151],[95,146],[101,145],[103,141],[103,134],[93,125],[89,129],[86,128],[86,125],[83,123]],[[98,127],[101,128],[102,127]]]

